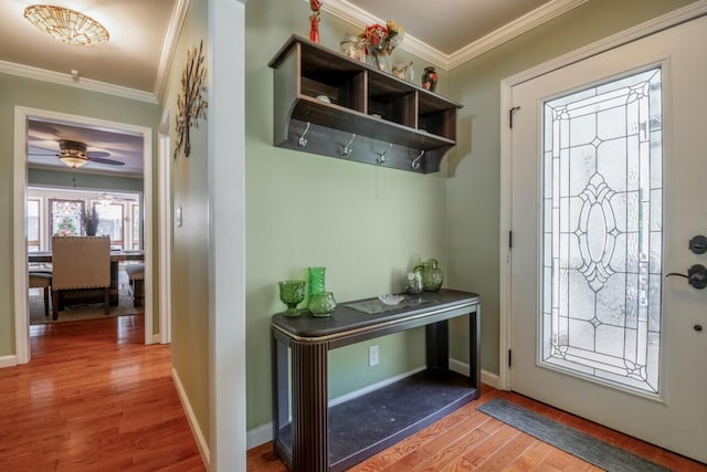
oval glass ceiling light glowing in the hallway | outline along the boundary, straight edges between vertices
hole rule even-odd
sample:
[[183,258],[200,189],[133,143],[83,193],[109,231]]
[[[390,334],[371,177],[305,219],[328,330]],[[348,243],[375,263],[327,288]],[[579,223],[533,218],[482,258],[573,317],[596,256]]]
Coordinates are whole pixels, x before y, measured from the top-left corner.
[[68,44],[87,46],[105,43],[110,38],[103,24],[67,8],[33,4],[24,9],[24,18],[40,31]]

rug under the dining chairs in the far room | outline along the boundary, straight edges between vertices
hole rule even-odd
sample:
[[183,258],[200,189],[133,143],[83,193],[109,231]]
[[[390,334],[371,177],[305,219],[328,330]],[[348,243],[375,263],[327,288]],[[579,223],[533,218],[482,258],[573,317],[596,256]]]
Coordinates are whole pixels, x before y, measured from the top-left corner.
[[52,307],[50,302],[49,318],[44,316],[44,296],[31,295],[30,296],[30,325],[42,325],[48,323],[64,323],[76,322],[93,318],[107,318],[113,316],[125,315],[144,315],[145,308],[135,308],[133,306],[133,297],[128,292],[120,291],[118,293],[118,304],[110,306],[109,313],[104,313],[103,303],[93,303],[86,305],[66,305],[64,311],[59,312],[59,319],[52,319]]

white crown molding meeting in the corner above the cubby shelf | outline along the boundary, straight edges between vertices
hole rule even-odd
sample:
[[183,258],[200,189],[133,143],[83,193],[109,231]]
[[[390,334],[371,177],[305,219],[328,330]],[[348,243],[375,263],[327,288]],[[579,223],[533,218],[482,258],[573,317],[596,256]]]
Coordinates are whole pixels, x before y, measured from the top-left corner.
[[[307,2],[308,0],[303,0]],[[466,61],[469,61],[503,43],[509,41],[539,24],[545,23],[560,14],[579,7],[588,0],[553,0],[539,7],[531,12],[511,21],[507,25],[494,31],[486,36],[460,49],[452,54],[445,54],[414,36],[405,33],[405,39],[400,45],[401,49],[429,61],[433,65],[450,71]],[[349,3],[346,0],[327,0],[323,7],[327,13],[339,18],[351,25],[363,29],[371,23],[384,23],[384,20],[377,18],[369,12]]]

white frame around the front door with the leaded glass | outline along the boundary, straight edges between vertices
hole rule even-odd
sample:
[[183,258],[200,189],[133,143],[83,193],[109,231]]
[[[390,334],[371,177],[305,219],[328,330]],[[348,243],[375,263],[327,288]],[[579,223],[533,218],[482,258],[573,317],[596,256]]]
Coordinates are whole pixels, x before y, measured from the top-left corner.
[[675,27],[707,14],[707,0],[700,0],[687,7],[672,11],[636,27],[613,34],[601,41],[572,51],[557,59],[520,72],[500,81],[500,218],[499,218],[499,300],[498,300],[498,386],[510,390],[510,367],[508,366],[510,339],[510,274],[511,249],[508,235],[511,231],[513,196],[513,134],[508,125],[508,111],[513,106],[511,91],[515,85],[550,73],[587,57],[627,44],[658,31]]

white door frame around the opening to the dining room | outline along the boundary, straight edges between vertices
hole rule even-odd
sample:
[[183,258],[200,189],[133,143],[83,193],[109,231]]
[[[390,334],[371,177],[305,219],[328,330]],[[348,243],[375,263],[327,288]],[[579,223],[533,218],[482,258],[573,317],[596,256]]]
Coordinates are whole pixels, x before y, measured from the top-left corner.
[[13,255],[14,255],[14,346],[15,363],[30,360],[30,323],[27,303],[28,269],[25,244],[25,200],[28,187],[27,171],[27,123],[29,118],[42,118],[75,124],[110,128],[143,136],[143,218],[145,251],[145,344],[152,344],[152,129],[145,126],[109,122],[106,119],[71,115],[24,106],[14,107],[14,166],[13,188]]

